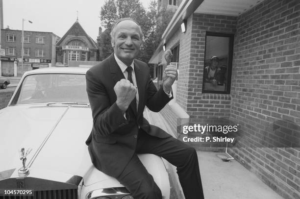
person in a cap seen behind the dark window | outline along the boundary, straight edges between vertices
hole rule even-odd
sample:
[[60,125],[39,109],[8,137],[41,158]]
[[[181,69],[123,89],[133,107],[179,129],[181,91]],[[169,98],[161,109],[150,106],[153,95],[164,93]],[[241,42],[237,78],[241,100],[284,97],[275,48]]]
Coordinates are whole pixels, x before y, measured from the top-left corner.
[[219,82],[219,58],[212,56],[210,59],[210,65],[204,68],[204,82],[212,83],[217,85]]

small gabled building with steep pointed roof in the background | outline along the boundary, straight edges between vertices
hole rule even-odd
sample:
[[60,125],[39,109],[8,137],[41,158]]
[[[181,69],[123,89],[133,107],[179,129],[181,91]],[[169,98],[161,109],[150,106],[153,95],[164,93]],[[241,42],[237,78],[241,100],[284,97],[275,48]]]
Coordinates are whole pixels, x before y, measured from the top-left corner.
[[78,20],[56,43],[58,66],[95,65],[99,60],[98,44],[84,31]]

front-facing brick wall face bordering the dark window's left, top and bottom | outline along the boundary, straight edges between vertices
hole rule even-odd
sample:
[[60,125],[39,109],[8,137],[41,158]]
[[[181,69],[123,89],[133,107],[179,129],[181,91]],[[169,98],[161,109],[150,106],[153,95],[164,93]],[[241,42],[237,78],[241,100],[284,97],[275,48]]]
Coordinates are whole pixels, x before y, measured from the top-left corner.
[[[202,94],[206,31],[235,33],[236,17],[193,14],[187,113],[191,118],[229,118],[230,95]],[[205,121],[203,121],[205,123]]]

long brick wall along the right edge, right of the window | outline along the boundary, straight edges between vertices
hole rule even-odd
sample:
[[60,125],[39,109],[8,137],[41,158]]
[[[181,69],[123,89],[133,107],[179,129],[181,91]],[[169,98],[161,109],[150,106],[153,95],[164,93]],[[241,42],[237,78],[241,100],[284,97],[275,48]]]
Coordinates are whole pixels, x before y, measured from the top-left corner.
[[285,199],[300,198],[300,149],[254,146],[300,137],[299,22],[299,0],[265,0],[238,17],[234,38],[231,120],[245,139],[229,152]]

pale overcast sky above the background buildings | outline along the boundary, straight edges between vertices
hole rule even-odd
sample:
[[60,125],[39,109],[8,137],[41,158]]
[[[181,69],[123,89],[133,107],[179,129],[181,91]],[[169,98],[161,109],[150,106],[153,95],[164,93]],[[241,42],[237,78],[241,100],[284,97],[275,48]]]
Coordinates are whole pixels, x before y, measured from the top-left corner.
[[[140,0],[148,8],[150,0]],[[3,0],[3,28],[53,32],[62,37],[78,22],[85,32],[97,39],[100,23],[100,9],[104,0]],[[104,28],[102,27],[102,31]]]

